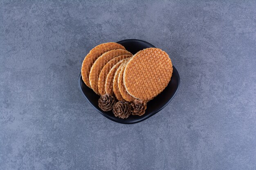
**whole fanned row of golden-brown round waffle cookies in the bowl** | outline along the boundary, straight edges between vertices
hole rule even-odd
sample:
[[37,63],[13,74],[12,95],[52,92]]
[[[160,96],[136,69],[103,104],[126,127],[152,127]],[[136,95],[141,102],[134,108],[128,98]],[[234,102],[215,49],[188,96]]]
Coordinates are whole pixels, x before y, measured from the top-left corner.
[[172,73],[171,59],[161,49],[148,48],[132,55],[115,42],[94,47],[81,68],[83,81],[95,93],[127,102],[153,99],[166,88]]

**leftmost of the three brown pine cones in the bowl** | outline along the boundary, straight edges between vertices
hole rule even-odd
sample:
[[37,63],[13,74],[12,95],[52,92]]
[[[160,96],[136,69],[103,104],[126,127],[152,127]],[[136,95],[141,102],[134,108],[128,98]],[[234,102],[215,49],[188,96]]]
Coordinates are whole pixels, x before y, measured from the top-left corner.
[[110,96],[109,94],[102,95],[101,98],[99,98],[99,108],[103,111],[109,111],[112,110],[113,106],[115,105],[116,101],[113,96]]

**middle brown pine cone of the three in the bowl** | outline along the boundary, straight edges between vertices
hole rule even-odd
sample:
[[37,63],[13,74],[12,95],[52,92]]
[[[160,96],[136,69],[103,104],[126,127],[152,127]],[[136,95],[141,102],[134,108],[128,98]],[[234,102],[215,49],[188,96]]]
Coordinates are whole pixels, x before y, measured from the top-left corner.
[[121,100],[113,107],[113,113],[115,117],[127,118],[131,114],[131,106],[128,102]]

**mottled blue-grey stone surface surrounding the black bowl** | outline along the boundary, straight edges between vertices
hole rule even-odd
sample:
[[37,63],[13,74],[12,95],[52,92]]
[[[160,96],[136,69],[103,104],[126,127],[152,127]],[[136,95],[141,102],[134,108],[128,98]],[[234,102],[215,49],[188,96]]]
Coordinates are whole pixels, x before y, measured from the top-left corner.
[[[256,2],[1,1],[0,170],[255,170]],[[117,124],[78,88],[97,44],[136,38],[181,77],[146,121]]]

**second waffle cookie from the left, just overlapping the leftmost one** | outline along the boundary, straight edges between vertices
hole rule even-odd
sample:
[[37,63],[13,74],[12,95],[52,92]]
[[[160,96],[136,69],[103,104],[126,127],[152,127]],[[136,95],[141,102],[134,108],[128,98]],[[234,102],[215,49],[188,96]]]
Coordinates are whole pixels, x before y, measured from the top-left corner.
[[126,51],[123,49],[116,49],[116,50],[108,51],[97,58],[97,60],[92,65],[92,68],[89,74],[89,82],[92,90],[95,93],[100,95],[98,90],[98,79],[99,79],[99,74],[101,73],[101,69],[113,58],[119,55],[126,55],[126,54],[132,55],[132,53],[130,53],[129,51]]

